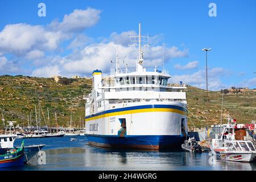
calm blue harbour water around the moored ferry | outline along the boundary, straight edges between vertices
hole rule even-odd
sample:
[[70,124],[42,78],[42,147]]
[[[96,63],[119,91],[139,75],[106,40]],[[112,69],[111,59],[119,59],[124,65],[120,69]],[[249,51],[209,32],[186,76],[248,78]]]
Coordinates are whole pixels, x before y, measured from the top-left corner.
[[[225,162],[207,153],[116,150],[89,146],[84,136],[24,139],[25,146],[46,144],[46,164],[36,157],[14,170],[256,170],[255,163]],[[15,140],[19,146],[22,139]]]

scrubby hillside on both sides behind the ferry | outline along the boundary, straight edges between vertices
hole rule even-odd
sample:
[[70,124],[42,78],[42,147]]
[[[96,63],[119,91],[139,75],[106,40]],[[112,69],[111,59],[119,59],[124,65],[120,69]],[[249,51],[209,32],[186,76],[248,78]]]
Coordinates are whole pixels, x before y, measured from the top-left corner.
[[[72,109],[73,123],[79,125],[80,118],[84,118],[83,95],[90,92],[92,80],[90,78],[66,79],[56,83],[53,78],[37,78],[24,76],[0,76],[0,108],[3,110],[5,121],[17,121],[20,126],[27,126],[27,116],[32,116],[35,125],[35,104],[42,106],[40,118],[44,125],[44,118],[48,126],[68,126]],[[220,123],[222,93],[209,92],[209,114],[207,116],[207,97],[205,90],[188,86],[187,101],[189,126],[207,126]],[[47,118],[47,108],[49,118]],[[1,114],[1,113],[0,113]],[[256,90],[242,90],[224,94],[223,118],[227,114],[237,119],[238,123],[249,122],[256,115]],[[38,113],[39,117],[39,113]],[[191,122],[192,121],[192,122]],[[2,126],[2,123],[1,125]]]

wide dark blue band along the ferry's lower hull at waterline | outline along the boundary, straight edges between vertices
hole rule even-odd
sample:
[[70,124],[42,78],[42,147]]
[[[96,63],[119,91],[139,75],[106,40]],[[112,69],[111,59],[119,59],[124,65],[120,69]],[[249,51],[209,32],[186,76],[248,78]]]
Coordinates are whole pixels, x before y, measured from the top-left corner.
[[135,135],[135,136],[110,136],[87,135],[89,144],[99,147],[113,148],[138,148],[159,150],[164,148],[180,148],[185,137],[180,135]]

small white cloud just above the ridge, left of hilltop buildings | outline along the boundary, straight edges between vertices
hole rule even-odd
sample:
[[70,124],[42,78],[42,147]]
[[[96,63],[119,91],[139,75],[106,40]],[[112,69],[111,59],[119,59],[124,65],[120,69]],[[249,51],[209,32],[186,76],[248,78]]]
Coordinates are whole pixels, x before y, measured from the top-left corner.
[[36,77],[52,77],[59,74],[60,70],[57,65],[37,68],[32,72],[32,76]]

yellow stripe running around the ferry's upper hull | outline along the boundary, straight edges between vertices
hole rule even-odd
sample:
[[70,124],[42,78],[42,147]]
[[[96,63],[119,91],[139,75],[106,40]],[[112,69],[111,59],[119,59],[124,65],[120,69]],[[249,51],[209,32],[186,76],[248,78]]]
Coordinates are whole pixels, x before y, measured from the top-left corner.
[[96,117],[85,119],[86,121],[91,121],[93,119],[100,119],[105,117],[112,117],[115,115],[125,115],[125,114],[134,114],[134,113],[147,113],[147,112],[171,112],[171,113],[179,113],[183,115],[187,115],[184,111],[178,110],[178,109],[168,109],[168,108],[150,108],[150,109],[136,109],[136,110],[127,110],[127,111],[119,111],[114,113],[107,113],[98,115]]

